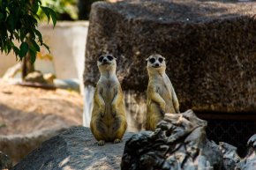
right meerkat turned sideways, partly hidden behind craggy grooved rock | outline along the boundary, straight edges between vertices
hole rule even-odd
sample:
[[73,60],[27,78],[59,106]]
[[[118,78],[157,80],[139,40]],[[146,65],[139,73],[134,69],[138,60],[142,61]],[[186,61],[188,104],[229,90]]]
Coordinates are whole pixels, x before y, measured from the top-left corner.
[[162,55],[150,55],[146,59],[147,85],[147,118],[146,129],[154,130],[165,113],[179,113],[179,103],[174,88],[165,73],[165,58]]

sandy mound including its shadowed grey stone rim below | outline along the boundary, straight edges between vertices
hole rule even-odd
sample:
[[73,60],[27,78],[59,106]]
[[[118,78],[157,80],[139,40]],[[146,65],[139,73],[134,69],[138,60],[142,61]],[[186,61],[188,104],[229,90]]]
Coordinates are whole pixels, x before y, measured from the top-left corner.
[[82,124],[82,109],[77,92],[11,85],[0,79],[0,151],[17,163],[56,133]]

